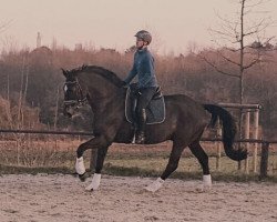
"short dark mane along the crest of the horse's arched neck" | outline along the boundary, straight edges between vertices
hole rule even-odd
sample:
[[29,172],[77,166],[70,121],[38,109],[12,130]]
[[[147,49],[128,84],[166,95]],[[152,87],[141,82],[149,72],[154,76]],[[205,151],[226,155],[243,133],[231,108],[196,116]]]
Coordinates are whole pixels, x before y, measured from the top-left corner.
[[96,73],[107,81],[112,82],[116,87],[122,87],[122,80],[112,71],[98,65],[82,65],[75,69],[70,70],[70,73],[78,74],[79,72],[93,72]]

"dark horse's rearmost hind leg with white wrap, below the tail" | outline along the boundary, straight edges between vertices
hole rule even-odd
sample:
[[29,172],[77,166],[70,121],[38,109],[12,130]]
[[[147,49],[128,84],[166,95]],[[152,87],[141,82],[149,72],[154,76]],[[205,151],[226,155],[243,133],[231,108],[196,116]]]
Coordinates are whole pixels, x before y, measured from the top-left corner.
[[202,170],[203,170],[203,182],[204,186],[212,186],[212,179],[209,174],[209,168],[208,168],[208,155],[205,153],[203,148],[199,144],[199,141],[196,141],[188,145],[192,153],[197,158],[198,162],[201,163]]

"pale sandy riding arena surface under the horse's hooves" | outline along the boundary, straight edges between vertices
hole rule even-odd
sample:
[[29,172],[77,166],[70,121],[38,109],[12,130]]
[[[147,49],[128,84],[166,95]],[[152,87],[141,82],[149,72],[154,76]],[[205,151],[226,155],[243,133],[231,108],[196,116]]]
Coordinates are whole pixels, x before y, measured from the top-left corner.
[[98,191],[72,175],[0,176],[0,221],[143,222],[277,221],[277,184],[168,179],[156,193],[143,191],[148,178],[102,175]]

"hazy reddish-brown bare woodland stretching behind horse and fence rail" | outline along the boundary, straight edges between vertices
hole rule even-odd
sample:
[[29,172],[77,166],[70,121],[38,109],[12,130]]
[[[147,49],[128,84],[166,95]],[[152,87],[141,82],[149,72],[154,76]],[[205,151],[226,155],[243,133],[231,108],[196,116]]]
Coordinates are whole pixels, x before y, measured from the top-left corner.
[[[95,64],[115,72],[122,79],[133,62],[131,48],[125,53],[113,49],[51,50],[2,52],[0,59],[0,128],[71,130],[90,129],[88,121],[62,114],[63,69]],[[164,94],[184,93],[202,103],[238,102],[239,80],[215,71],[198,56],[214,61],[219,69],[236,73],[237,68],[212,50],[186,56],[155,56],[156,74]],[[234,57],[234,54],[233,54]],[[270,61],[268,61],[270,60]],[[259,103],[264,138],[277,134],[277,51],[267,52],[260,62],[247,69],[244,79],[245,103]],[[91,118],[90,110],[86,115]],[[85,124],[86,123],[86,124]]]

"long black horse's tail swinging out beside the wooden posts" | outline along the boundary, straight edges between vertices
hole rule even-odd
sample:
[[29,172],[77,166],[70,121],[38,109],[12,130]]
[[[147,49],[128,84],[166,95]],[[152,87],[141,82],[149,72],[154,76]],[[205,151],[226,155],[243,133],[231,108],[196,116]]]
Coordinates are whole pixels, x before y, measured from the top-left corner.
[[236,135],[236,124],[230,113],[215,104],[204,104],[204,109],[212,113],[212,125],[215,125],[217,118],[223,124],[223,144],[225,153],[232,160],[240,161],[247,158],[246,150],[235,150],[233,147],[234,139]]

